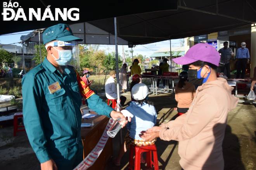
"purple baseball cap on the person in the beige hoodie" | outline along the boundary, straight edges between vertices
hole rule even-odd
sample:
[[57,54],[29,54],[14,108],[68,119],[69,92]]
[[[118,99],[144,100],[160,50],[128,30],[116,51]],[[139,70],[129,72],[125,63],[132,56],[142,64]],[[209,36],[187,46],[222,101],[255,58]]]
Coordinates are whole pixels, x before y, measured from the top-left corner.
[[173,61],[179,65],[188,65],[198,60],[219,66],[220,54],[213,46],[199,43],[192,46],[184,56],[173,58]]

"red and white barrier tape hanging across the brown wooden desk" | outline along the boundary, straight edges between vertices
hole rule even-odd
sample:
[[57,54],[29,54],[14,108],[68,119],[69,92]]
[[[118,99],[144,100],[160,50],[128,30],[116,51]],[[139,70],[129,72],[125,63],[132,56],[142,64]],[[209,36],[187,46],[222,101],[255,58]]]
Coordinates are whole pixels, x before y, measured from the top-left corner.
[[113,123],[114,123],[114,120],[112,118],[109,119],[109,122],[104,130],[104,133],[102,134],[95,148],[89,153],[88,156],[86,156],[86,158],[79,165],[76,166],[76,168],[74,168],[74,170],[86,170],[93,165],[93,163],[100,156],[100,153],[104,149],[107,143],[107,140],[109,139],[109,136],[107,135],[107,131],[112,126]]

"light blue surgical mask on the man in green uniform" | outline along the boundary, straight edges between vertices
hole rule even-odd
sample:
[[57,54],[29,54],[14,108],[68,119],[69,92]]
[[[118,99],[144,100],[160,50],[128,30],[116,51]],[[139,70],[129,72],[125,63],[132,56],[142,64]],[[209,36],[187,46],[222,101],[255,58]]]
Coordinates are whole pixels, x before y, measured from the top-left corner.
[[[54,48],[56,49],[56,48]],[[55,61],[58,63],[59,66],[66,66],[68,65],[71,60],[72,60],[72,50],[71,49],[64,49],[64,50],[59,50],[56,49],[59,53],[59,59],[56,59],[56,57],[52,54],[52,56],[54,56]]]

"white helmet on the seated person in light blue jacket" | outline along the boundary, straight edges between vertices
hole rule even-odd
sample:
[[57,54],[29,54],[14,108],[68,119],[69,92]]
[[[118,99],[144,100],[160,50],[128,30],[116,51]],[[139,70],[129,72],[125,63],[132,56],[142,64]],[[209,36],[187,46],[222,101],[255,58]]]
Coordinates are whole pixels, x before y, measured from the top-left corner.
[[131,96],[135,100],[143,100],[147,97],[148,94],[149,89],[147,88],[147,85],[143,83],[138,83],[131,89]]

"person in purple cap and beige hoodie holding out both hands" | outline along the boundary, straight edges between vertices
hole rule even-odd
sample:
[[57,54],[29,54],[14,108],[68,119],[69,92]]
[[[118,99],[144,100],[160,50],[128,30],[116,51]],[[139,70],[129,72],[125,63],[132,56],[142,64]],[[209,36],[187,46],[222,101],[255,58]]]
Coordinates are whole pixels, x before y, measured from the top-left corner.
[[179,141],[178,154],[184,170],[223,170],[221,145],[227,114],[236,107],[238,99],[231,94],[233,87],[216,76],[220,55],[213,46],[200,43],[173,61],[189,65],[195,77],[202,79],[202,85],[197,88],[187,114],[150,128],[141,137],[145,141],[157,137]]

